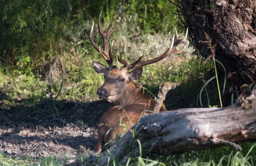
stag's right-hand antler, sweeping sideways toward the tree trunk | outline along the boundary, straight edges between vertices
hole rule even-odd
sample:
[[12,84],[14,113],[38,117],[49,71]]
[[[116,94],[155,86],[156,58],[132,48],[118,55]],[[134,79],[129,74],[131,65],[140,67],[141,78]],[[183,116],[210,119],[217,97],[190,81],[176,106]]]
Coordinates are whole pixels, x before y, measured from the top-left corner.
[[[181,49],[177,50],[176,47],[182,43],[184,40],[186,40],[186,37],[188,35],[188,29],[186,30],[186,35],[182,38],[182,39],[179,39],[178,38],[178,33],[177,33],[177,29],[176,27],[174,26],[174,29],[175,29],[175,35],[173,35],[173,38],[172,38],[172,45],[169,47],[169,49],[167,49],[163,54],[161,54],[160,56],[154,58],[154,59],[151,59],[151,60],[145,60],[143,62],[140,62],[140,60],[144,57],[145,55],[145,52],[143,53],[143,55],[138,59],[136,60],[134,63],[132,64],[129,64],[126,60],[122,60],[120,55],[118,54],[118,61],[120,63],[122,63],[127,70],[131,70],[131,69],[136,69],[136,68],[140,68],[142,66],[146,66],[146,65],[149,65],[151,63],[156,63],[160,60],[163,60],[164,58],[168,57],[170,54],[173,54],[173,53],[180,53],[183,51],[183,49],[185,48],[185,45],[182,46]],[[146,50],[145,50],[146,51]]]

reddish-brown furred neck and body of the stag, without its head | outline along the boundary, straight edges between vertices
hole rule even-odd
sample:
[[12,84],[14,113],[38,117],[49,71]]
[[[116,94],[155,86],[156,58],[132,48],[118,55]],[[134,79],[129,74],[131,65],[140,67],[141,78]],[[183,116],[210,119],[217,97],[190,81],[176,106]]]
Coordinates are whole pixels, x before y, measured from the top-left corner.
[[[104,142],[107,143],[113,140],[116,135],[122,135],[127,132],[137,123],[139,117],[145,114],[145,110],[153,110],[154,99],[143,94],[131,81],[122,91],[119,100],[114,102],[114,105],[116,106],[109,107],[99,120],[97,153],[101,152]],[[166,111],[165,107],[163,106],[160,111]],[[119,126],[121,118],[122,124],[126,124],[126,130],[124,126]],[[110,129],[111,131],[108,132]],[[108,135],[106,136],[107,132]]]

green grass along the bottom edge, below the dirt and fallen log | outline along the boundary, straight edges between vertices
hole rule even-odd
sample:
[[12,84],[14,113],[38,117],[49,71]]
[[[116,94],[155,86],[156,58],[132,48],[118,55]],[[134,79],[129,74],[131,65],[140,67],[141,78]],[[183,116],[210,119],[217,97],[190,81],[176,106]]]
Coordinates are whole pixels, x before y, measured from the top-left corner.
[[[200,152],[186,152],[181,155],[161,156],[158,160],[151,160],[142,157],[135,157],[129,160],[130,166],[255,166],[256,164],[256,143],[242,143],[241,152],[233,151],[229,147],[207,149]],[[81,156],[82,161],[88,156]],[[32,158],[21,157],[12,158],[0,153],[0,166],[58,166],[63,165],[64,160],[56,157]],[[118,164],[117,164],[118,165]]]

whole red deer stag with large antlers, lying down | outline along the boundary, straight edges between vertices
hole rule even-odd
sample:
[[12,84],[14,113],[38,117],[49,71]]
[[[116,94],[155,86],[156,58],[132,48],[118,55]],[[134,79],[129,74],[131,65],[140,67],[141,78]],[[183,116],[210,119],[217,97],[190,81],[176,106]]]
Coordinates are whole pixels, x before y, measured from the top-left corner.
[[[122,60],[118,54],[118,61],[124,66],[121,69],[116,69],[116,66],[113,65],[113,42],[108,50],[108,40],[121,21],[117,23],[117,25],[111,31],[111,27],[117,17],[116,15],[108,26],[107,31],[103,32],[100,25],[101,13],[102,12],[99,14],[98,29],[99,34],[103,39],[103,50],[96,46],[93,41],[93,26],[90,31],[90,42],[102,55],[102,57],[107,60],[108,68],[95,61],[93,61],[93,68],[98,74],[104,75],[105,78],[105,82],[98,89],[97,94],[99,97],[113,103],[114,106],[109,107],[99,120],[98,143],[96,145],[96,152],[98,153],[102,151],[104,142],[108,142],[114,139],[116,135],[120,135],[124,132],[125,127],[119,126],[121,118],[122,123],[126,123],[126,129],[130,129],[133,124],[137,123],[139,117],[144,113],[145,109],[153,110],[154,99],[151,99],[148,95],[143,94],[143,92],[141,92],[141,90],[133,83],[133,80],[138,80],[141,77],[141,67],[163,60],[170,54],[182,52],[185,45],[180,50],[177,50],[176,46],[186,39],[188,33],[188,31],[186,31],[185,37],[180,40],[178,39],[177,30],[175,28],[175,35],[172,38],[172,45],[163,54],[151,60],[140,62],[145,55],[144,52],[137,61],[129,64],[126,60]],[[134,70],[129,72],[131,69]],[[160,111],[165,111],[165,107],[162,106]],[[108,134],[106,135],[106,133]]]

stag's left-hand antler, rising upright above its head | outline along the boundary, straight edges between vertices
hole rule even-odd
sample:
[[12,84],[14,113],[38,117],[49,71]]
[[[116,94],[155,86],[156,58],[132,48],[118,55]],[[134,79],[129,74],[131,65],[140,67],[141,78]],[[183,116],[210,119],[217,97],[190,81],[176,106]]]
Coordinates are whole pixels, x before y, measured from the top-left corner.
[[119,23],[117,23],[117,25],[114,27],[114,29],[111,31],[112,25],[114,23],[114,21],[116,20],[116,17],[118,16],[118,14],[116,14],[116,17],[111,21],[111,23],[108,26],[108,29],[106,32],[102,31],[101,25],[100,25],[100,16],[102,14],[102,11],[100,11],[99,14],[99,20],[98,20],[98,29],[99,29],[99,34],[102,37],[103,40],[103,50],[100,49],[100,47],[96,46],[96,44],[93,41],[93,26],[94,26],[94,22],[93,22],[93,26],[92,29],[90,31],[90,42],[93,45],[93,47],[102,55],[102,57],[105,58],[105,60],[107,60],[108,65],[109,66],[113,66],[113,55],[112,55],[112,47],[113,47],[113,42],[110,46],[110,50],[108,51],[108,40],[109,37],[111,36],[111,34],[113,34],[113,32],[116,30],[117,26],[119,26],[119,24],[121,23],[121,21],[119,21]]

